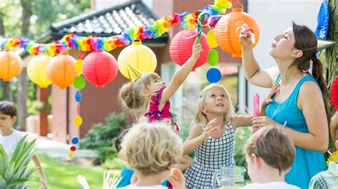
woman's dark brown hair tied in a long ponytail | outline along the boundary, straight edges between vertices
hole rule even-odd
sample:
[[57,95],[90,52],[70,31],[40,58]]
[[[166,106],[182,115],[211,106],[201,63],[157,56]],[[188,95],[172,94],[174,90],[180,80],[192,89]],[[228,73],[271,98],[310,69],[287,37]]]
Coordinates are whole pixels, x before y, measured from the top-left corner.
[[307,26],[297,25],[292,22],[292,30],[295,33],[295,48],[302,50],[303,55],[295,60],[292,66],[297,66],[299,70],[307,71],[310,68],[310,60],[312,60],[312,76],[318,82],[327,111],[327,85],[323,77],[323,65],[317,58],[317,37],[307,28]]

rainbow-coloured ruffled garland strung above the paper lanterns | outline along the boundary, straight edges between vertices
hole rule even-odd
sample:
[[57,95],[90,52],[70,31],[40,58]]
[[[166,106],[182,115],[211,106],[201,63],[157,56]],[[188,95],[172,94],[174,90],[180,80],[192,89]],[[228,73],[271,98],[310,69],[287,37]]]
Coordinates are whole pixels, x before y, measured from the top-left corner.
[[[214,4],[205,6],[202,10],[205,12],[205,19],[201,24],[203,27],[215,27],[221,13],[225,13],[226,9],[231,8],[230,0],[215,0]],[[11,50],[17,46],[21,46],[31,55],[39,55],[39,53],[47,53],[54,56],[63,52],[63,50],[105,50],[111,51],[118,47],[129,45],[135,40],[143,41],[144,39],[159,38],[173,28],[178,21],[184,21],[189,18],[198,18],[198,11],[189,13],[173,13],[172,16],[163,16],[162,18],[150,23],[148,26],[140,26],[136,28],[126,28],[120,35],[111,37],[98,36],[77,36],[75,34],[66,34],[58,41],[49,44],[34,43],[29,38],[1,38],[0,50]],[[206,24],[205,24],[206,22]],[[193,23],[192,23],[193,24]]]

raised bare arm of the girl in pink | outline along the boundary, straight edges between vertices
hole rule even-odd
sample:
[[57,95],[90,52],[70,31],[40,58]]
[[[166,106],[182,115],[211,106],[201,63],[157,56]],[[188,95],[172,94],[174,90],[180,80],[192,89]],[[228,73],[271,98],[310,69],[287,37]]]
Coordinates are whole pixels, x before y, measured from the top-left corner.
[[175,94],[175,92],[178,90],[178,87],[180,87],[180,85],[182,85],[184,80],[188,77],[198,58],[200,58],[200,52],[203,51],[202,45],[200,45],[200,43],[197,44],[196,41],[197,38],[193,44],[193,54],[190,56],[187,62],[185,62],[184,65],[182,65],[180,69],[175,72],[168,86],[165,88],[165,90],[163,90],[160,104],[164,104],[168,99],[170,99],[171,96]]

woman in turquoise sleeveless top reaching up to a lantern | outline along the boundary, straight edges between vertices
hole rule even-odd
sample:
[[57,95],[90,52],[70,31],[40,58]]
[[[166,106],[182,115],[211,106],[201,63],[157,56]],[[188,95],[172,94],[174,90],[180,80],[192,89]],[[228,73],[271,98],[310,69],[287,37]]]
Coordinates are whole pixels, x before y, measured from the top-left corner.
[[275,37],[269,53],[277,66],[266,70],[260,69],[252,42],[245,38],[245,33],[241,33],[240,43],[247,80],[266,88],[279,85],[272,102],[267,104],[266,117],[256,117],[252,124],[284,127],[287,123],[284,129],[295,143],[296,158],[285,181],[308,188],[312,176],[326,169],[323,153],[329,144],[327,88],[322,63],[316,57],[317,38],[306,26],[293,23],[285,33]]

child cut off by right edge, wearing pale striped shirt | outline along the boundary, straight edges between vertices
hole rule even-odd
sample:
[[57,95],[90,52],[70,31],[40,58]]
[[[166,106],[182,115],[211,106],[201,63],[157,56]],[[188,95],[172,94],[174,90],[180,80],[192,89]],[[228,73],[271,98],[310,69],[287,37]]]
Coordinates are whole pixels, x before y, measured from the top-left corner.
[[[331,117],[330,130],[332,140],[338,149],[338,112]],[[309,182],[309,188],[338,188],[338,161],[330,161],[327,171],[314,175]]]

